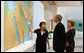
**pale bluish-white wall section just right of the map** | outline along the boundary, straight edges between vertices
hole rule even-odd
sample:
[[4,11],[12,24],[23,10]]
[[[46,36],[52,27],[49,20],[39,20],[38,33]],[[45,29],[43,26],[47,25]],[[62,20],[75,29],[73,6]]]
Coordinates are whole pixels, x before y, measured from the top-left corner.
[[[40,1],[33,1],[33,30],[40,28],[39,23],[44,19],[44,5]],[[36,41],[37,35],[33,33],[33,40]]]

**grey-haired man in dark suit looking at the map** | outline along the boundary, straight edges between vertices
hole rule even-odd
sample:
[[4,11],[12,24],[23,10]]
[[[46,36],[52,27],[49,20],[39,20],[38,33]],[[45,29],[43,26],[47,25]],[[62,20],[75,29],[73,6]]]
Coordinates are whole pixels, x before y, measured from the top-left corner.
[[56,15],[53,19],[57,25],[55,26],[53,33],[53,50],[55,52],[64,52],[65,43],[66,43],[66,35],[65,35],[65,27],[61,23],[62,16]]

